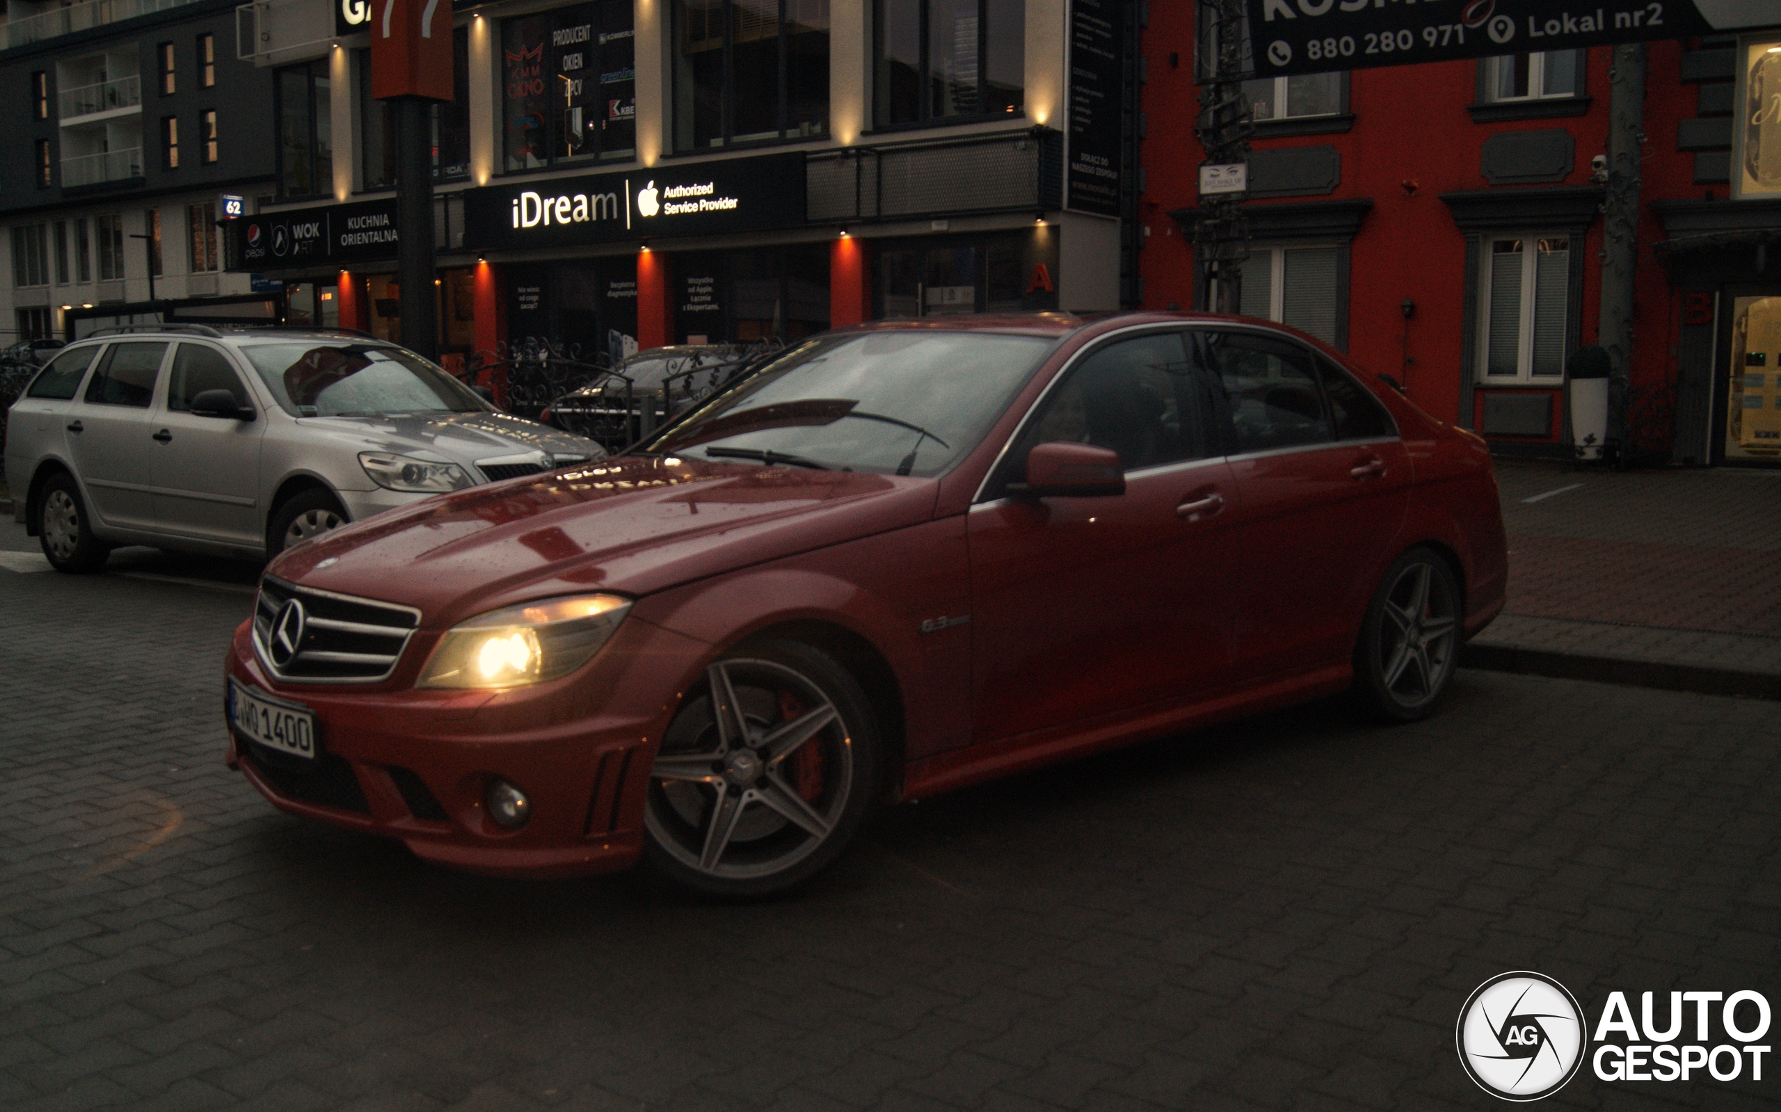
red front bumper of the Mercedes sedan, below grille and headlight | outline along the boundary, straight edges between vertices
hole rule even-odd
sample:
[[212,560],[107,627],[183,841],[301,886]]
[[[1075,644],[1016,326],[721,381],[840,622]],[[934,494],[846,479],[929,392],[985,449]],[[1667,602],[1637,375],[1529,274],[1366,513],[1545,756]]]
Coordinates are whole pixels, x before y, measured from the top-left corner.
[[[228,765],[283,811],[401,838],[415,856],[454,868],[565,877],[636,863],[655,745],[709,646],[632,617],[561,680],[508,692],[415,690],[436,639],[417,633],[395,676],[376,687],[297,685],[272,680],[244,623],[228,676],[315,712],[322,756],[280,760],[230,729]],[[486,813],[495,778],[533,801],[518,831]]]

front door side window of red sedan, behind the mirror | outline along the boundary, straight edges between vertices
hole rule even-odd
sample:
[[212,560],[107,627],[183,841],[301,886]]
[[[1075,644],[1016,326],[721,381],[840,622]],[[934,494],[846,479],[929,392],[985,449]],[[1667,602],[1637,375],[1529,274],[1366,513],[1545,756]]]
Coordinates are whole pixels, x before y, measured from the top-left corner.
[[1090,352],[1045,397],[1017,459],[1054,439],[1113,448],[1127,471],[1202,459],[1213,454],[1204,413],[1181,333],[1118,340]]

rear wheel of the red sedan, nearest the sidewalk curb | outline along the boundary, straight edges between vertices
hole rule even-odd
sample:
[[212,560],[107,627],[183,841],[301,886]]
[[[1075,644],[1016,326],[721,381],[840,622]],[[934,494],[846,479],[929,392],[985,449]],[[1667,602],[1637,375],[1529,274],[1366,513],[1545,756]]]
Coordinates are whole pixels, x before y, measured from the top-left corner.
[[1446,560],[1427,548],[1405,552],[1373,592],[1354,651],[1361,705],[1391,722],[1427,719],[1453,680],[1462,632]]

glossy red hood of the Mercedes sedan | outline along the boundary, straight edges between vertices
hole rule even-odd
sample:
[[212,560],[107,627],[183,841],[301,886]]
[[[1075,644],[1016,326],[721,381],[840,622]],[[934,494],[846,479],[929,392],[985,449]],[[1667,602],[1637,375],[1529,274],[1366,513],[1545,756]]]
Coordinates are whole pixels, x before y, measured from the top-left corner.
[[470,488],[299,544],[269,575],[429,628],[550,594],[650,594],[933,516],[933,479],[620,457]]

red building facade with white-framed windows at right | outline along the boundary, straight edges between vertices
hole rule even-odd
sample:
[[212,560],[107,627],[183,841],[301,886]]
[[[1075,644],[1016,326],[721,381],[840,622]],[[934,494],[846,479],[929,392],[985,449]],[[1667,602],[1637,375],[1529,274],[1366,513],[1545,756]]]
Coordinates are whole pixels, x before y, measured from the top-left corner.
[[[1143,37],[1147,308],[1206,301],[1191,246],[1195,7],[1151,5]],[[1781,32],[1646,44],[1626,404],[1640,461],[1781,464],[1781,423],[1758,436],[1781,422],[1781,381],[1745,391],[1763,375],[1747,359],[1781,377],[1781,351],[1751,349],[1781,331],[1781,258],[1769,258],[1781,178],[1758,173],[1761,144],[1781,144],[1756,103],[1774,80],[1765,66],[1781,75],[1770,46]],[[1598,342],[1605,174],[1592,158],[1606,153],[1612,59],[1599,46],[1248,82],[1243,311],[1400,379],[1505,455],[1573,455],[1583,438],[1564,368]]]

